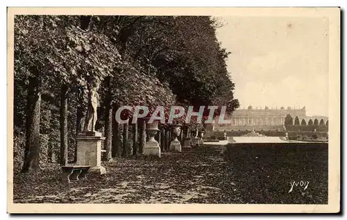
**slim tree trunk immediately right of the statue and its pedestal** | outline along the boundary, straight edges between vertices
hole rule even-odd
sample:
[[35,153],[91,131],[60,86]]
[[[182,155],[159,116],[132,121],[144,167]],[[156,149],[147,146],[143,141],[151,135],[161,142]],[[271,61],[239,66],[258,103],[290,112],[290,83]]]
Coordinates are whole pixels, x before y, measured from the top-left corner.
[[106,94],[105,100],[105,150],[106,150],[106,160],[112,158],[112,94],[110,94],[110,77],[106,78],[106,83],[108,86],[108,94]]

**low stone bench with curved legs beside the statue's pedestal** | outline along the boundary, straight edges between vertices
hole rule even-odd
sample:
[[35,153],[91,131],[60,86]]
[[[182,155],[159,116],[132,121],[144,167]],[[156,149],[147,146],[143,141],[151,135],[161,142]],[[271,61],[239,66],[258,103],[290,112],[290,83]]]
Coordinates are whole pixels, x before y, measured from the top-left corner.
[[90,166],[62,166],[62,182],[70,183],[70,181],[78,181],[87,177]]

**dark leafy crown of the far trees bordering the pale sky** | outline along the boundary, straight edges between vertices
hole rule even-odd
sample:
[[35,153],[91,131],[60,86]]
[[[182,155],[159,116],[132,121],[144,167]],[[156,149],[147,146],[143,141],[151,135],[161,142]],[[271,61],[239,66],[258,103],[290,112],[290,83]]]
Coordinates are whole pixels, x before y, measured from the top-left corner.
[[161,16],[142,21],[128,39],[128,55],[147,74],[169,83],[178,102],[226,105],[228,112],[239,107],[226,69],[229,53],[217,41],[214,20]]

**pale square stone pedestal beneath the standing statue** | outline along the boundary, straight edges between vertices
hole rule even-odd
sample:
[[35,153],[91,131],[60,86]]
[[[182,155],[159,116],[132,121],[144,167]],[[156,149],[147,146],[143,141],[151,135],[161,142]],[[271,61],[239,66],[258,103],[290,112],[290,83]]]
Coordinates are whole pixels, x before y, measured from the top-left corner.
[[76,137],[77,161],[76,165],[91,166],[90,173],[105,174],[105,167],[101,166],[101,137],[99,132],[87,132]]

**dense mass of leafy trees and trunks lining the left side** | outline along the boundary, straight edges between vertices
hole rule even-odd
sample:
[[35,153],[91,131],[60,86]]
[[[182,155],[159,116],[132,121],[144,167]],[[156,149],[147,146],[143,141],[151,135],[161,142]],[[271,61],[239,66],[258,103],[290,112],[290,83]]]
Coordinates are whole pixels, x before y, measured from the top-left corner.
[[121,105],[152,112],[164,105],[166,116],[171,105],[238,108],[216,28],[210,17],[16,16],[14,135],[22,171],[52,155],[62,164],[67,155],[74,160],[72,137],[97,85],[97,129],[109,139],[112,108]]

